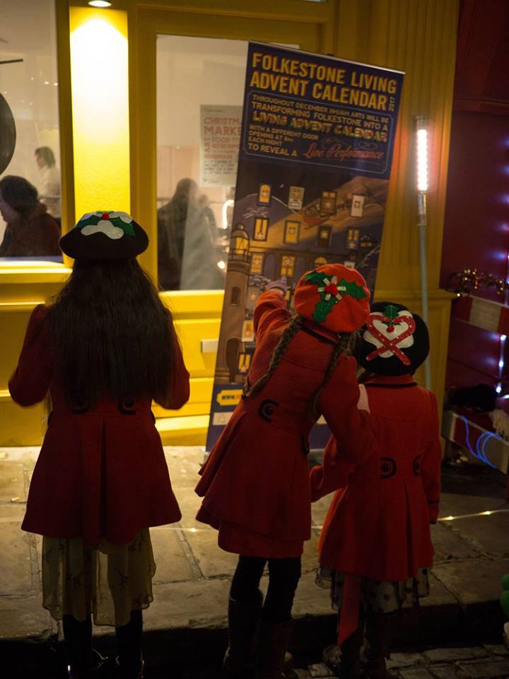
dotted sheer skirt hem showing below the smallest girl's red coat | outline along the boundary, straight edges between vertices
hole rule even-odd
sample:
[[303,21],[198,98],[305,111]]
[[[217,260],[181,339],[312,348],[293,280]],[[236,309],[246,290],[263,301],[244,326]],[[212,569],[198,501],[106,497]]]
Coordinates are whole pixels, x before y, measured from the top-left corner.
[[[330,588],[332,608],[341,608],[344,575],[323,566],[318,568],[316,584]],[[429,595],[428,569],[420,568],[415,578],[402,581],[380,581],[363,578],[361,603],[373,613],[393,613],[404,606],[419,607],[419,599]]]

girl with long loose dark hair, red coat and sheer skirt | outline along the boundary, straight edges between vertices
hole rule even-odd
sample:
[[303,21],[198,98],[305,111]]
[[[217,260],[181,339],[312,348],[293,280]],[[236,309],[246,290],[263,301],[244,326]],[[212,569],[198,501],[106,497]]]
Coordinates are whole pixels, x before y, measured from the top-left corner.
[[75,258],[50,306],[35,307],[9,382],[52,412],[23,530],[43,535],[43,605],[62,620],[71,676],[101,658],[96,625],[115,625],[122,677],[141,677],[141,610],[156,571],[149,526],[179,521],[151,400],[180,408],[189,373],[172,317],[136,262],[145,231],[124,212],[84,215],[60,241]]

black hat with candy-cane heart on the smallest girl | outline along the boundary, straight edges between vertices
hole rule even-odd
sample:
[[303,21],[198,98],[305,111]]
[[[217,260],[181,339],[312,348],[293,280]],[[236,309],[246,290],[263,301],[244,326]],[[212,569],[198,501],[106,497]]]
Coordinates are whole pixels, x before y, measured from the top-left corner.
[[365,370],[392,376],[414,373],[428,353],[426,323],[395,302],[373,304],[353,348],[353,355]]

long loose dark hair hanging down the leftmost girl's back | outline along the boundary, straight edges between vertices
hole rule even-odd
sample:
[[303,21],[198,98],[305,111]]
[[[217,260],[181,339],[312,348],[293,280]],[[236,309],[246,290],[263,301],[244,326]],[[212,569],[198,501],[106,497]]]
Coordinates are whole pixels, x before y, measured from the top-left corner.
[[175,371],[170,311],[136,259],[74,262],[49,307],[59,377],[71,403],[164,401]]

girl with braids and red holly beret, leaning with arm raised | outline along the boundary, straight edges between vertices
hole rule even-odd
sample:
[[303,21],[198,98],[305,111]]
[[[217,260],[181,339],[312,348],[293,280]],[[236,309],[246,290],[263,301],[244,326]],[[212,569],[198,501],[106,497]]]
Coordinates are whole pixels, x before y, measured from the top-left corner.
[[[278,289],[278,286],[280,289]],[[339,440],[357,443],[351,463],[370,454],[368,414],[357,410],[355,361],[345,356],[351,332],[369,312],[369,291],[354,269],[329,264],[305,274],[292,315],[284,282],[259,296],[257,349],[242,400],[201,469],[197,518],[217,528],[219,546],[240,555],[228,607],[224,672],[245,677],[254,664],[259,620],[259,676],[281,677],[300,578],[303,542],[310,538],[308,434],[320,414]],[[259,581],[269,566],[262,604]]]

